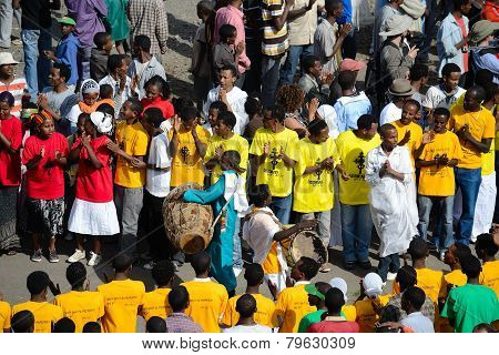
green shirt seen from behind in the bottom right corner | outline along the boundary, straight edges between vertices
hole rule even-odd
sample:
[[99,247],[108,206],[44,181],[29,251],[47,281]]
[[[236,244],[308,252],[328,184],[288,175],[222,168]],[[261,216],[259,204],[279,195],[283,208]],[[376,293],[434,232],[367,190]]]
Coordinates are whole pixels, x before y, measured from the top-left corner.
[[454,323],[454,332],[471,333],[480,323],[499,320],[499,302],[491,288],[466,284],[450,290],[441,316]]

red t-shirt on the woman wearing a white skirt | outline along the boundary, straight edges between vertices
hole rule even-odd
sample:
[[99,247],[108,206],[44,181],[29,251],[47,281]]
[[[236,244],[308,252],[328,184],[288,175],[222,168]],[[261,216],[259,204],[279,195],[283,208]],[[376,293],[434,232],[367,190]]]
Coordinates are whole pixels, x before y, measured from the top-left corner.
[[[77,199],[95,203],[113,201],[111,151],[105,145],[108,140],[108,136],[101,135],[90,142],[96,158],[103,165],[100,169],[93,168],[86,148],[81,149],[77,176]],[[81,139],[78,139],[71,149],[75,149],[80,145],[80,142]]]

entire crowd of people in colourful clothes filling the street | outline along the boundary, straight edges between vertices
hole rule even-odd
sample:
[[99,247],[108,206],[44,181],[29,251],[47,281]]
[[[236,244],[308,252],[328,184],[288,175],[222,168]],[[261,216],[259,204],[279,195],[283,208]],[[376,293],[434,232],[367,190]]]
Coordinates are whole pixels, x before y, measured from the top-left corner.
[[[203,0],[184,97],[163,1],[64,2],[52,48],[60,0],[1,1],[2,48],[21,9],[24,74],[0,53],[0,252],[75,246],[71,291],[31,273],[30,301],[0,297],[3,332],[497,332],[498,1],[377,0],[364,63],[365,0]],[[193,255],[163,227],[179,189],[215,217]],[[310,231],[325,255],[291,261]],[[83,263],[103,260],[114,276],[90,291]],[[195,278],[174,285],[184,263]],[[365,274],[354,303],[345,280],[314,282],[332,264]]]

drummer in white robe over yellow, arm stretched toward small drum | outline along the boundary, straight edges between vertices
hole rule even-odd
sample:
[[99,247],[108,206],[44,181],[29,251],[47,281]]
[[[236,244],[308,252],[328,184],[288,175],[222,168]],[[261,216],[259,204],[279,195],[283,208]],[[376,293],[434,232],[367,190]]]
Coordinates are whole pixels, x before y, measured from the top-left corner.
[[268,185],[256,185],[251,191],[249,199],[253,205],[252,212],[244,219],[243,240],[253,248],[253,263],[262,264],[268,288],[274,298],[277,298],[277,294],[286,288],[287,271],[278,242],[303,230],[315,227],[317,220],[306,220],[285,230],[268,207],[272,202]]

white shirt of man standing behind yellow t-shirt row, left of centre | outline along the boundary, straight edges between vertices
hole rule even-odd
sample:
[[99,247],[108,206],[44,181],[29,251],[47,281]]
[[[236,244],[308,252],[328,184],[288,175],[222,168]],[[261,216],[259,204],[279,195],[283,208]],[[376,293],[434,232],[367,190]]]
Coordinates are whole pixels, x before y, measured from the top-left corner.
[[[208,116],[208,110],[213,102],[218,101],[220,85],[215,89],[210,90],[206,102],[203,106],[204,116]],[[237,87],[232,88],[227,92],[227,102],[231,105],[231,111],[236,116],[236,125],[234,126],[234,133],[243,135],[244,130],[249,121],[246,111],[244,110],[244,104],[246,103],[247,93]]]

